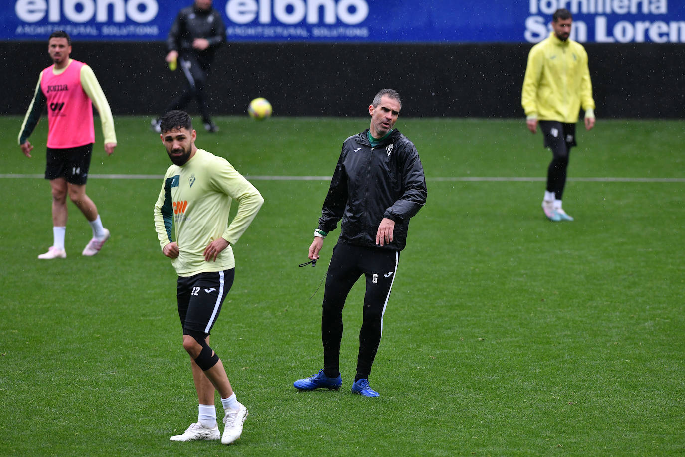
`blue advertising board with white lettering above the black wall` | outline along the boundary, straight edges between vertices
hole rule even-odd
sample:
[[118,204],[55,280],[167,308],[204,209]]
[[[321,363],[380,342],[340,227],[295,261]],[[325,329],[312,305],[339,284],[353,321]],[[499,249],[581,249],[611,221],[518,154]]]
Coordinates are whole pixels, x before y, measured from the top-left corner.
[[[5,0],[0,40],[55,29],[93,41],[162,41],[192,0]],[[214,0],[238,42],[538,42],[573,14],[579,42],[685,42],[685,0]]]

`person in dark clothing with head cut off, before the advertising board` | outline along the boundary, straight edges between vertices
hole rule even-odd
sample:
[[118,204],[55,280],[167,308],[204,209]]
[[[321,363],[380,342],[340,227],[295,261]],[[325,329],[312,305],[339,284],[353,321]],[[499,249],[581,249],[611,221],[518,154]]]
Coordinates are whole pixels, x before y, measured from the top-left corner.
[[[214,52],[226,41],[226,29],[221,14],[212,8],[212,0],[195,0],[176,16],[166,38],[166,63],[171,69],[178,66],[186,77],[186,88],[169,103],[164,112],[184,110],[193,98],[202,116],[202,123],[208,132],[219,132],[212,122],[205,88],[214,61]],[[160,132],[159,118],[153,119],[150,127]]]

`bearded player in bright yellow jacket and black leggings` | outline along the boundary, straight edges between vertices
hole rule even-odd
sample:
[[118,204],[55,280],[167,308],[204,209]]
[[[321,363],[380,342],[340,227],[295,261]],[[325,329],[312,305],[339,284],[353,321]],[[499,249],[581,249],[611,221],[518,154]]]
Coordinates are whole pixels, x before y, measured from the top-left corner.
[[549,38],[530,50],[521,93],[528,129],[536,133],[539,123],[545,147],[553,154],[543,199],[545,215],[552,221],[573,221],[562,208],[562,196],[569,152],[577,145],[575,123],[581,107],[585,111],[585,128],[595,126],[588,54],[580,43],[569,39],[571,23],[569,10],[554,12]]

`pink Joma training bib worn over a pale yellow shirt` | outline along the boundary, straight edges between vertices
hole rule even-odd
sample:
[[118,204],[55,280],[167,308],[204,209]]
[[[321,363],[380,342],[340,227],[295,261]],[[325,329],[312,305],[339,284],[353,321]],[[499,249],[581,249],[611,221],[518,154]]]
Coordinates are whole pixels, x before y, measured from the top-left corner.
[[43,70],[40,89],[47,97],[47,147],[67,148],[95,143],[92,101],[81,86],[85,64],[72,60],[59,75],[54,65]]

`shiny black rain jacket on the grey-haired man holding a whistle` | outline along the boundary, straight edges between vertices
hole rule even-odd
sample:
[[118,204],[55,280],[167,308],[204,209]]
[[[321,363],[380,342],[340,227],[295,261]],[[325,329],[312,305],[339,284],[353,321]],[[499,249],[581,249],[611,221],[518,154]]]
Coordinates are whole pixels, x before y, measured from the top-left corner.
[[[419,153],[406,136],[395,129],[383,143],[371,147],[369,129],[343,143],[331,178],[319,230],[332,232],[340,223],[338,242],[401,251],[407,243],[409,219],[424,205],[427,196]],[[393,242],[376,245],[381,220],[395,221]]]

